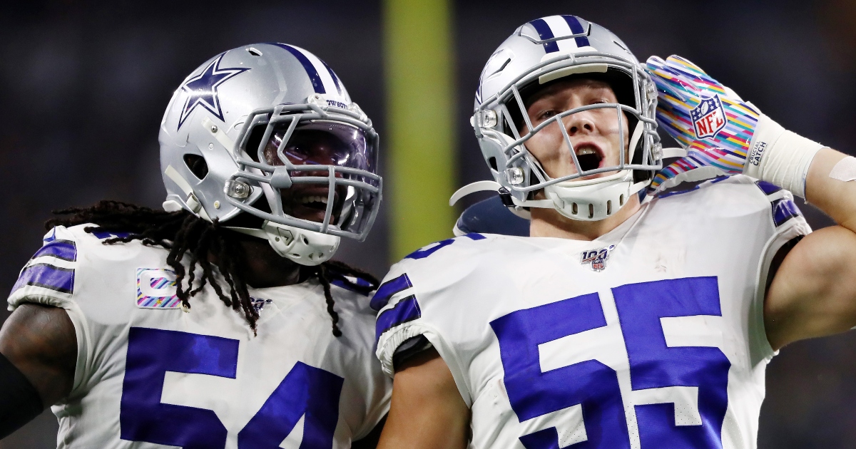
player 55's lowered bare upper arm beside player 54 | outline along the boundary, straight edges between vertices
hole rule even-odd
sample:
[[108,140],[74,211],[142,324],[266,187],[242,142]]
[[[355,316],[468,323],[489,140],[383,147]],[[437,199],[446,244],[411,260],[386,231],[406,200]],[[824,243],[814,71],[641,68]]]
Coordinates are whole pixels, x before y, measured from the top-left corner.
[[395,370],[392,405],[378,449],[465,449],[470,410],[434,349]]

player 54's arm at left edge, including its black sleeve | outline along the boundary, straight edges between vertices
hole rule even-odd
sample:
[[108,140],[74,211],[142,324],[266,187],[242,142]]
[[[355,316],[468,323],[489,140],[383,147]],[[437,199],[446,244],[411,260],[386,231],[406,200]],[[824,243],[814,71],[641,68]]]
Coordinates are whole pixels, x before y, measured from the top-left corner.
[[0,439],[68,396],[77,338],[65,310],[22,304],[0,329]]

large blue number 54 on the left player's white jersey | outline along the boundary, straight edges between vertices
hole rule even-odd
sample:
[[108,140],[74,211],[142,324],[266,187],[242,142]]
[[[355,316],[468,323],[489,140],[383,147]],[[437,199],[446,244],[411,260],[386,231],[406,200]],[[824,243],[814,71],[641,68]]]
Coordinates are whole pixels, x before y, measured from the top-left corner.
[[[238,340],[162,329],[131,328],[122,384],[122,440],[184,449],[226,446],[226,428],[214,411],[160,402],[167,371],[235,379]],[[273,449],[304,417],[301,449],[329,449],[344,380],[298,362],[238,433],[240,449]]]

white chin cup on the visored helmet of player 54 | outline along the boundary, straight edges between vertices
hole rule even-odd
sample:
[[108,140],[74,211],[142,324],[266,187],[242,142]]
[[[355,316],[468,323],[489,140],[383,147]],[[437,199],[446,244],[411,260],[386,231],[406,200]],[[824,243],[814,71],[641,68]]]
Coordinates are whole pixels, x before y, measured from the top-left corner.
[[339,248],[340,238],[329,233],[267,221],[262,230],[267,234],[268,243],[276,254],[300,265],[314,266],[327,262]]

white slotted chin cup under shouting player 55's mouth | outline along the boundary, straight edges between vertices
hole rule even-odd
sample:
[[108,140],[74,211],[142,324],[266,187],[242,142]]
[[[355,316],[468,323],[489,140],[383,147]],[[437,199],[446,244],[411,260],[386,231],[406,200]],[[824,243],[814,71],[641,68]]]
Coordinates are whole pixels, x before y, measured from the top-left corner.
[[[599,222],[615,215],[644,188],[648,181],[633,185],[633,170],[621,170],[612,180],[565,181],[544,187],[553,207],[563,216],[582,222]],[[599,182],[598,182],[599,181]]]

